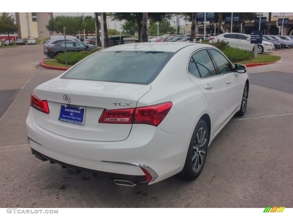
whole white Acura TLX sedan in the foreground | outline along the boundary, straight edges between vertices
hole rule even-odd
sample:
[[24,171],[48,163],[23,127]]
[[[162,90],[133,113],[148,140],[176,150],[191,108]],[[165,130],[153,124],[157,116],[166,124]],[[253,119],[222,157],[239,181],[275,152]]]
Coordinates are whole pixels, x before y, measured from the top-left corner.
[[28,140],[40,160],[118,185],[193,180],[212,140],[245,114],[248,88],[246,67],[210,45],[114,46],[34,89]]

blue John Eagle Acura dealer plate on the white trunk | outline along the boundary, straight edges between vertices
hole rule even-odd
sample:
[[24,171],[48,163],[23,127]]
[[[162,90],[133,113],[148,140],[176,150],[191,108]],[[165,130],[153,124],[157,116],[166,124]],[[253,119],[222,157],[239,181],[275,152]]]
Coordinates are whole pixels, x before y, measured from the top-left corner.
[[84,124],[86,108],[79,106],[60,106],[59,121],[66,121],[74,124]]

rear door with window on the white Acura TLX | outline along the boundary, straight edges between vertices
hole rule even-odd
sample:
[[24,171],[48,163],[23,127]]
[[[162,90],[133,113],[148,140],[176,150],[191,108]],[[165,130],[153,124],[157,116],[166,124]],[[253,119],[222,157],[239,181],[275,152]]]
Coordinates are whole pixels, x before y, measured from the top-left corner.
[[214,135],[229,118],[226,82],[221,75],[217,75],[214,63],[206,49],[197,51],[190,57],[188,72],[192,75],[191,80],[200,88],[209,103],[212,135]]

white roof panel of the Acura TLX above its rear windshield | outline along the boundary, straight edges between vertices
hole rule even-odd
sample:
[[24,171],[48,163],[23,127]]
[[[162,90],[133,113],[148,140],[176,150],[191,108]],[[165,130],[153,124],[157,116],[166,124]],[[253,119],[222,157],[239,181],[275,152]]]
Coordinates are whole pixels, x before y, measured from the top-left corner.
[[[187,46],[194,45],[196,49],[204,48],[209,45],[199,43],[187,42],[145,42],[145,43],[129,43],[106,48],[107,51],[121,51],[121,50],[137,50],[137,51],[163,51],[163,52],[177,52],[178,50]],[[212,46],[211,46],[212,47]]]

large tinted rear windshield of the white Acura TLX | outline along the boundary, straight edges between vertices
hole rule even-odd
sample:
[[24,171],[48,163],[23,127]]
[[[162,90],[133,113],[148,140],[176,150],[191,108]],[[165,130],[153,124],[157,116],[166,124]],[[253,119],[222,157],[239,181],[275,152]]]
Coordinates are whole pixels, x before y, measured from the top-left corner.
[[100,51],[71,68],[61,78],[149,84],[175,53]]

